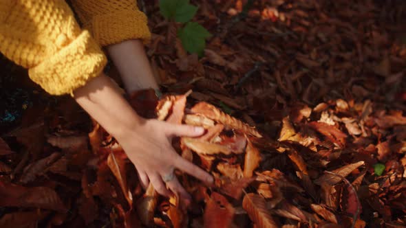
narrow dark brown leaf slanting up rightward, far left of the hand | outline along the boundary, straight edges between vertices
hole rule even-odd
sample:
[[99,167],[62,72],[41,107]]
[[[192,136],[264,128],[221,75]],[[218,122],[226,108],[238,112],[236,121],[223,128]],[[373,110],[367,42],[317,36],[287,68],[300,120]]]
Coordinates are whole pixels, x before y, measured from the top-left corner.
[[36,176],[40,176],[47,172],[52,163],[61,158],[61,153],[54,152],[52,155],[35,161],[24,168],[23,174],[20,177],[21,183],[29,183],[36,179]]

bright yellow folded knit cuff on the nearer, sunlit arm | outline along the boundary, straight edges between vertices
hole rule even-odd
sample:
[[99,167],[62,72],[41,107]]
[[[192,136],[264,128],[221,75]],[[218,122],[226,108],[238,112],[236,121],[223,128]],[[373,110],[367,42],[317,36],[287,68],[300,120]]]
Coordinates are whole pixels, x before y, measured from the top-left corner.
[[82,87],[103,71],[107,59],[84,30],[72,43],[28,71],[30,78],[52,95],[63,95]]

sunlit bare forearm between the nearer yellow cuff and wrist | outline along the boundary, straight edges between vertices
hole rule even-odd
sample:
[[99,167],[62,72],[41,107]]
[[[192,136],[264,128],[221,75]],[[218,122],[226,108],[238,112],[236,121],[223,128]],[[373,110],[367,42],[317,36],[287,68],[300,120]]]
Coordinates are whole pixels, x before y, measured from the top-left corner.
[[142,118],[133,111],[104,73],[76,89],[74,98],[114,137],[125,136],[129,128],[142,124]]

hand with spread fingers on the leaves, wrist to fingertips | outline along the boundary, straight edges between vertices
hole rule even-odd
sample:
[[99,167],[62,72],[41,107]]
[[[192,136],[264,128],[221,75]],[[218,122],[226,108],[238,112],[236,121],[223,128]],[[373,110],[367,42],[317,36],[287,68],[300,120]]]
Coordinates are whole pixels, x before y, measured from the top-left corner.
[[190,200],[189,194],[176,176],[167,181],[167,187],[165,186],[164,176],[171,176],[175,168],[195,176],[204,183],[213,183],[210,174],[182,158],[171,145],[173,137],[197,137],[204,133],[204,128],[169,124],[156,119],[144,120],[142,123],[117,140],[136,166],[143,187],[147,187],[151,181],[159,194],[171,196],[171,192],[167,190],[169,187],[172,192],[179,193],[181,198]]

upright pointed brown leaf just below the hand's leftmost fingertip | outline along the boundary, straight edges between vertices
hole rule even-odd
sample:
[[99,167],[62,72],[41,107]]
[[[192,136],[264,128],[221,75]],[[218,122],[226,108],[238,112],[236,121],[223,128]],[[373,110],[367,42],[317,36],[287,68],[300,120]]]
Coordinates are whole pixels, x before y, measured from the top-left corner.
[[136,211],[140,217],[141,222],[150,227],[153,225],[153,214],[158,204],[158,193],[153,189],[151,183],[149,183],[147,191],[139,198],[136,203]]

